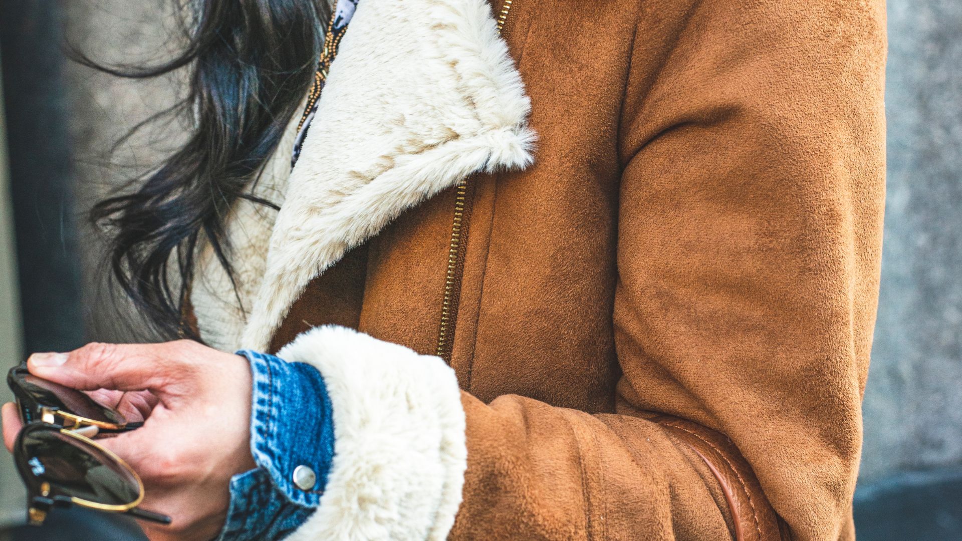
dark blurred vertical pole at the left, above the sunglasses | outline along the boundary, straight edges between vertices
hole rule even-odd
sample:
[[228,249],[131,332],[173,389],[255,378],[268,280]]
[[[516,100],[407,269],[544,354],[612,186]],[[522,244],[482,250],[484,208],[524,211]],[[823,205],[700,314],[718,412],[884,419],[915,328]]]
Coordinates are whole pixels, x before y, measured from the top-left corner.
[[11,199],[28,353],[76,348],[85,334],[60,11],[60,3],[52,0],[0,0]]

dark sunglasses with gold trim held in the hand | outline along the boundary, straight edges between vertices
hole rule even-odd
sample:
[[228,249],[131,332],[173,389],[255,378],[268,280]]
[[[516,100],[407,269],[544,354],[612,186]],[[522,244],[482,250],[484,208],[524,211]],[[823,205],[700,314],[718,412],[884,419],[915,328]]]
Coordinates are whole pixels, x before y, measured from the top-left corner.
[[27,486],[27,517],[39,526],[53,507],[80,505],[170,524],[170,517],[140,509],[143,482],[114,452],[91,438],[142,423],[76,389],[37,377],[20,365],[7,374],[24,427],[13,461]]

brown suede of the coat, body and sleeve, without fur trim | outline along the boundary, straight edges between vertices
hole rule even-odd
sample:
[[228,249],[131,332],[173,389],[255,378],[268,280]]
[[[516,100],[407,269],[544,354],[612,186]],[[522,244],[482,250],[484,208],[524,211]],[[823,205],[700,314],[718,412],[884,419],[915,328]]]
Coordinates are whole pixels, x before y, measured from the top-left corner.
[[458,191],[405,212],[271,348],[338,323],[449,360],[452,539],[852,539],[884,20],[881,0],[514,0],[534,165],[468,179],[450,259]]

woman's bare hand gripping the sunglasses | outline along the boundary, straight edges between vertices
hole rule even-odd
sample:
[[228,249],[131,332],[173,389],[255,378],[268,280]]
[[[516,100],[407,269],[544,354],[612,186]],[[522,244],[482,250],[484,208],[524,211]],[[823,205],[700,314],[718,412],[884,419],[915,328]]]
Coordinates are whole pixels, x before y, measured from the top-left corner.
[[[150,539],[216,536],[226,518],[230,478],[255,466],[249,444],[251,375],[243,357],[188,340],[89,344],[69,353],[31,355],[28,367],[51,381],[96,391],[97,399],[115,401],[132,418],[146,416],[137,430],[99,443],[143,479],[141,506],[173,518],[170,526],[141,522]],[[15,410],[5,406],[8,448],[19,428]]]

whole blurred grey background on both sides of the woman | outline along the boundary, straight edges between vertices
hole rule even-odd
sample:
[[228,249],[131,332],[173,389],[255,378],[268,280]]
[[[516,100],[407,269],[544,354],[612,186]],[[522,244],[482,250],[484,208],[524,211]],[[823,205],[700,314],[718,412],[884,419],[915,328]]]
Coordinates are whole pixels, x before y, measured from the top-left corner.
[[[105,149],[170,104],[177,83],[95,74],[64,62],[58,46],[65,37],[98,60],[162,58],[169,50],[168,11],[162,0],[0,0],[12,179],[9,197],[0,182],[0,339],[11,345],[8,364],[17,358],[17,316],[28,352],[130,336],[131,317],[117,317],[126,308],[103,287],[99,240],[79,215],[176,144],[177,126],[154,129],[106,165]],[[889,37],[888,205],[856,523],[862,540],[958,540],[962,2],[890,0]],[[0,138],[2,127],[0,119]],[[2,158],[0,152],[0,180]],[[40,205],[51,193],[62,204]],[[4,245],[13,238],[11,214],[22,307],[11,287],[13,252]],[[0,457],[0,524],[22,520],[20,498],[9,458]],[[14,538],[60,539],[37,535],[21,531]]]

